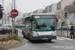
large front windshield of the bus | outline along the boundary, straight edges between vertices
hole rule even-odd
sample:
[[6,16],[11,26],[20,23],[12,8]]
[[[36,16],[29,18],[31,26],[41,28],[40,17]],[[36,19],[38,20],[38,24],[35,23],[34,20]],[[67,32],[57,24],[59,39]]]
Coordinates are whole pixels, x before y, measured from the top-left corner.
[[56,20],[55,19],[34,19],[32,22],[32,30],[55,30]]

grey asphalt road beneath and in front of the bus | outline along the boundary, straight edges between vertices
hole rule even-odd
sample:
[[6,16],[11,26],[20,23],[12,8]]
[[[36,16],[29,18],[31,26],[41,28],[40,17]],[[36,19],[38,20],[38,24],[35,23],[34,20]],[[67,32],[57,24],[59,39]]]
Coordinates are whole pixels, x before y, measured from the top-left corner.
[[25,45],[10,50],[75,50],[74,39],[58,36],[56,40],[52,40],[51,42],[47,41],[30,42],[29,40],[23,38],[20,29],[18,35],[22,40],[24,40]]

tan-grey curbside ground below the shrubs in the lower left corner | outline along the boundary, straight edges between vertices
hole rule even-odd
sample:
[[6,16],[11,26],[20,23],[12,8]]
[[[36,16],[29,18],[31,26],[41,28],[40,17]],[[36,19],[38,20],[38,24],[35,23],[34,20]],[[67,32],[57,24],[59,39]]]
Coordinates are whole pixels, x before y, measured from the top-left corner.
[[7,50],[7,49],[12,49],[12,48],[23,46],[24,44],[25,43],[23,41],[14,42],[10,44],[0,44],[0,48],[3,48],[3,49],[5,48],[4,50]]

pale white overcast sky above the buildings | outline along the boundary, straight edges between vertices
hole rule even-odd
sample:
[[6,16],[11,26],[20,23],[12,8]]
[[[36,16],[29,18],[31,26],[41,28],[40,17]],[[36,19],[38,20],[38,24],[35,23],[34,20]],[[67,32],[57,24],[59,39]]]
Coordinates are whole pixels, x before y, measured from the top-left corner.
[[[4,8],[8,7],[11,4],[12,0],[4,0]],[[44,9],[47,5],[57,3],[60,0],[15,0],[17,10],[26,13],[31,12],[37,9]],[[2,4],[2,1],[0,0]]]

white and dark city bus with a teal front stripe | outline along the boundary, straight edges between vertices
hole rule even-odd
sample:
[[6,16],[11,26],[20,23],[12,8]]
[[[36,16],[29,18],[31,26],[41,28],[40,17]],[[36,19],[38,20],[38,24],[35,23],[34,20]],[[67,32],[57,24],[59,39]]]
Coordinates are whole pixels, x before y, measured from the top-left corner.
[[24,18],[25,28],[22,29],[22,35],[30,41],[57,39],[57,22],[54,13],[30,15]]

